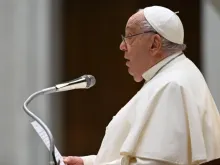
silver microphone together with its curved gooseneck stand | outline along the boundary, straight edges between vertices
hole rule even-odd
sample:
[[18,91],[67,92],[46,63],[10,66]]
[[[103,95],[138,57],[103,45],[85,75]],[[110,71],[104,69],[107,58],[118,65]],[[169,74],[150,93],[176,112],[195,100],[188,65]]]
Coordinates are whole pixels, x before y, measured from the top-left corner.
[[55,93],[55,92],[63,92],[73,89],[88,89],[95,85],[96,79],[92,75],[83,75],[79,78],[73,79],[71,81],[57,84],[53,87],[45,88],[43,90],[37,91],[30,95],[28,99],[23,104],[23,109],[25,113],[27,113],[28,116],[30,116],[33,120],[35,120],[40,126],[45,130],[46,134],[48,135],[49,142],[50,142],[50,148],[49,148],[49,164],[50,165],[57,165],[56,157],[55,157],[55,146],[54,146],[54,138],[50,131],[50,129],[47,127],[47,125],[33,112],[31,112],[28,109],[28,104],[37,96],[43,95],[43,94],[49,94],[49,93]]

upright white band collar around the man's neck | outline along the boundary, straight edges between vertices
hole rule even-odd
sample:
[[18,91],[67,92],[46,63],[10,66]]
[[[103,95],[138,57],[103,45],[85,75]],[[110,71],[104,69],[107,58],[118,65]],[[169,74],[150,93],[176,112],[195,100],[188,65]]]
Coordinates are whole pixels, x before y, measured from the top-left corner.
[[181,53],[182,52],[174,53],[173,55],[170,55],[170,56],[166,57],[165,59],[161,60],[156,65],[154,65],[153,67],[148,69],[146,72],[144,72],[142,77],[145,79],[146,82],[148,82],[149,80],[151,80],[155,76],[155,74],[157,74],[157,72],[162,67],[164,67],[166,64],[168,64],[172,59],[174,59],[177,56],[179,56]]

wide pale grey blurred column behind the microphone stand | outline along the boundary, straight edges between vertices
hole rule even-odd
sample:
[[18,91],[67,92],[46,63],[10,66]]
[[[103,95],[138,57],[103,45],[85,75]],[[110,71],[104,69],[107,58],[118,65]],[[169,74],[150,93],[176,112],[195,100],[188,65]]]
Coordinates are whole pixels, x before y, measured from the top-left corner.
[[[48,151],[22,105],[30,94],[59,80],[58,53],[52,55],[52,49],[58,50],[51,37],[52,6],[52,1],[45,0],[0,1],[0,164],[48,163]],[[59,119],[54,111],[60,103],[52,106],[52,101],[42,96],[30,108],[58,134],[53,120]]]

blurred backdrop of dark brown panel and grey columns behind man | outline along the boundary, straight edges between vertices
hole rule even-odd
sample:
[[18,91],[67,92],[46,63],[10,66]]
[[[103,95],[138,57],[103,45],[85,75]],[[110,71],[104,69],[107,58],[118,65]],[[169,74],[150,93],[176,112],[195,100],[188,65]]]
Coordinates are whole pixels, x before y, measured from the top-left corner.
[[48,164],[22,105],[32,93],[84,74],[97,80],[91,89],[40,96],[29,108],[62,155],[98,152],[112,117],[143,85],[128,74],[119,45],[129,17],[151,5],[179,11],[185,54],[220,106],[219,0],[0,0],[0,164]]

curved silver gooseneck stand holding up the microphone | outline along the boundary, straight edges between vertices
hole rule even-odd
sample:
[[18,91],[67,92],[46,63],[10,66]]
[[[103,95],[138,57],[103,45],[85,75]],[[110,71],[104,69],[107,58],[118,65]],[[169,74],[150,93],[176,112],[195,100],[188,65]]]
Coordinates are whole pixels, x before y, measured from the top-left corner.
[[56,87],[50,87],[50,88],[46,88],[46,89],[43,89],[41,91],[35,92],[31,96],[28,97],[28,99],[24,102],[24,105],[23,105],[23,109],[27,113],[27,115],[29,115],[32,119],[34,119],[36,122],[38,122],[42,126],[42,128],[45,130],[46,134],[49,137],[49,141],[50,141],[49,165],[57,165],[58,164],[57,161],[56,161],[56,157],[55,157],[55,146],[54,146],[53,135],[52,135],[51,131],[49,130],[49,128],[46,126],[46,124],[44,124],[44,122],[39,117],[37,117],[34,113],[32,113],[27,108],[27,106],[37,96],[43,95],[43,94],[53,93],[53,92],[56,92],[56,91],[57,91]]

